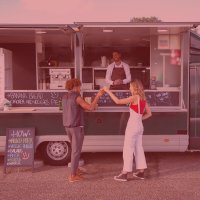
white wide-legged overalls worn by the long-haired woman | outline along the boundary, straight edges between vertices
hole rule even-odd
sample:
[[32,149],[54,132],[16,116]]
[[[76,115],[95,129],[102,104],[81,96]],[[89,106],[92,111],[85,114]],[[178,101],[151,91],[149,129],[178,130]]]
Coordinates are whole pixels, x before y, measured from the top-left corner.
[[133,154],[135,155],[136,169],[147,168],[144,150],[142,147],[142,135],[144,127],[142,124],[142,115],[140,114],[140,100],[138,100],[138,113],[129,107],[130,118],[127,123],[124,148],[123,148],[123,159],[124,166],[123,171],[132,172],[133,166]]

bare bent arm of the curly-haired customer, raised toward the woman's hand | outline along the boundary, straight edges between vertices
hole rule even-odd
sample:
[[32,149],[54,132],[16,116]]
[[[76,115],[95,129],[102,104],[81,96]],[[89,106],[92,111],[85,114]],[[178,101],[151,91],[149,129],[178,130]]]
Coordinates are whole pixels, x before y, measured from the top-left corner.
[[78,105],[80,105],[84,110],[93,111],[98,102],[99,97],[101,97],[103,94],[104,94],[104,92],[102,90],[100,90],[99,93],[97,94],[97,96],[95,97],[94,101],[91,104],[85,102],[81,96],[79,96],[76,99],[76,103]]

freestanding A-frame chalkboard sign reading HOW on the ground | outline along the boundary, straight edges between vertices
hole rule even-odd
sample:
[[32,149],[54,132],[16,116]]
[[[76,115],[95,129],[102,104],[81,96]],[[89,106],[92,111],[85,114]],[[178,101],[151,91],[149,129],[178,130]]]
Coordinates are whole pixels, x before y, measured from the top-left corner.
[[32,167],[34,169],[35,128],[7,128],[4,157],[6,167]]

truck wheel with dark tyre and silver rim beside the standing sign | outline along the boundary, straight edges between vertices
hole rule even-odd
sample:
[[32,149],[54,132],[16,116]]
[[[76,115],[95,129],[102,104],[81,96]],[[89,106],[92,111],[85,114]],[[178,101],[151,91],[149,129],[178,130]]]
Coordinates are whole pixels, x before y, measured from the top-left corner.
[[71,145],[65,141],[52,141],[41,144],[40,152],[48,165],[67,165],[71,159]]

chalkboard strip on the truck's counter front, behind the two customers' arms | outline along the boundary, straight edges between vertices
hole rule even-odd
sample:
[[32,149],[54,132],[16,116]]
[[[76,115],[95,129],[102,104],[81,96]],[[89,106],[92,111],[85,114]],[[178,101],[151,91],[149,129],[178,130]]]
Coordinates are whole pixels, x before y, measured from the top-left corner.
[[[113,92],[118,99],[124,99],[131,96],[130,92]],[[83,92],[83,98],[95,97],[97,92]],[[145,92],[146,101],[149,106],[179,106],[179,92]],[[98,100],[99,107],[106,106],[129,106],[129,104],[116,104],[109,94],[105,93]]]

